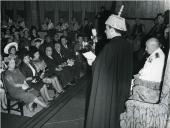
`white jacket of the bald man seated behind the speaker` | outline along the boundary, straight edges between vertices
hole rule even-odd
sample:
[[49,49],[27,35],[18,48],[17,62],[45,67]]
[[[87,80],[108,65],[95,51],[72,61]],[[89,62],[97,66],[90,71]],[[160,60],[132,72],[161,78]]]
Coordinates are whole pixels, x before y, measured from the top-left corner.
[[139,71],[139,78],[147,81],[161,82],[165,55],[158,48],[146,60],[144,67]]

